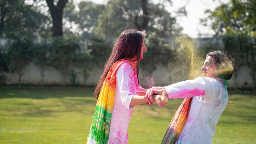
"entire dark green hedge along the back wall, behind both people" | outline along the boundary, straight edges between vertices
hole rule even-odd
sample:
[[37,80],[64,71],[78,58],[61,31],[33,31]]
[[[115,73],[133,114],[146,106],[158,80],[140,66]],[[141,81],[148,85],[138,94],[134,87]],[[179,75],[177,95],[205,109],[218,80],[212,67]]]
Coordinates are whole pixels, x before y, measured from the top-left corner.
[[[238,68],[242,65],[250,67],[250,74],[253,77],[256,88],[255,40],[255,38],[241,35],[227,35],[223,37],[224,49],[222,50],[235,58]],[[184,40],[181,39],[182,41]],[[105,40],[94,38],[89,41],[88,50],[81,50],[79,42],[80,40],[77,38],[61,37],[51,39],[50,44],[33,44],[27,38],[15,39],[8,42],[6,46],[0,45],[0,72],[17,72],[21,79],[23,67],[29,61],[33,61],[41,71],[41,86],[44,84],[44,71],[47,66],[52,66],[59,70],[63,77],[63,86],[66,85],[65,82],[68,77],[74,86],[79,85],[75,80],[78,73],[83,74],[86,83],[86,79],[89,76],[88,71],[94,65],[104,65],[113,45],[108,44]],[[175,44],[171,47],[156,33],[148,32],[145,38],[147,51],[144,52],[144,58],[140,63],[143,74],[152,74],[158,64],[167,67],[169,63],[187,61],[186,56],[189,57],[190,55],[180,50],[182,43],[176,42]],[[218,48],[212,46],[200,49],[204,53],[203,56],[212,50],[218,50]],[[183,62],[182,64],[185,63]],[[72,66],[79,67],[81,71],[72,70]]]

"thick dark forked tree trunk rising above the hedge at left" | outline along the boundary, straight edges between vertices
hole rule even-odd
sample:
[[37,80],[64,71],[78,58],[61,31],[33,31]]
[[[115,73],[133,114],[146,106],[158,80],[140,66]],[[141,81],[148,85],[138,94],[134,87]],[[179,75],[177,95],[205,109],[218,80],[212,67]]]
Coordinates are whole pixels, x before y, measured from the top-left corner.
[[[54,2],[53,0],[45,0],[47,2],[47,5],[49,7],[52,19],[53,19],[53,37],[61,36],[63,35],[62,32],[62,15],[63,15],[63,9],[65,7],[65,4],[68,2],[68,0],[59,0],[58,3]],[[56,4],[55,4],[56,3]]]

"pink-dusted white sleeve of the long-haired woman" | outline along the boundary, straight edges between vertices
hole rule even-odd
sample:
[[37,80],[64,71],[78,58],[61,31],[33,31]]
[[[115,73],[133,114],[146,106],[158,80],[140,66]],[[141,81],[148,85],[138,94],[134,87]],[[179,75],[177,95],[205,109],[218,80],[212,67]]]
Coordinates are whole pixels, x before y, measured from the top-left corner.
[[134,107],[130,107],[131,99],[134,96],[134,87],[132,86],[132,83],[134,82],[132,81],[133,76],[133,70],[129,63],[121,64],[116,72],[119,94],[123,105],[128,110],[131,110]]

